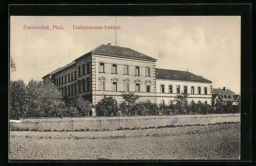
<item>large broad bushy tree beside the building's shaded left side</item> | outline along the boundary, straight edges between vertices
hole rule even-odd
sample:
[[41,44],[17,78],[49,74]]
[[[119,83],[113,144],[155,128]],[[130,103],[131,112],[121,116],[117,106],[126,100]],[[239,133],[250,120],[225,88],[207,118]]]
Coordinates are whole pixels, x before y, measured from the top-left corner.
[[61,92],[50,81],[31,79],[26,89],[28,94],[26,117],[54,117],[57,110],[65,105]]

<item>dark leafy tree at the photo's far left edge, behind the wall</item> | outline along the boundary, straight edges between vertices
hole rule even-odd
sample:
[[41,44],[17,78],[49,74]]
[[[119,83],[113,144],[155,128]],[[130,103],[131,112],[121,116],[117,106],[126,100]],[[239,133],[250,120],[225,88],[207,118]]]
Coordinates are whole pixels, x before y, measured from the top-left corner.
[[27,109],[26,84],[23,80],[10,81],[10,119],[19,119]]

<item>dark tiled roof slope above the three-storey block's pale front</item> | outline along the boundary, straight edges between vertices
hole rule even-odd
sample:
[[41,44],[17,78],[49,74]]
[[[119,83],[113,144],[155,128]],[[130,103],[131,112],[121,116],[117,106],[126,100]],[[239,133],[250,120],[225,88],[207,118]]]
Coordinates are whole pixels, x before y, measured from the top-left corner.
[[101,54],[110,54],[113,56],[121,56],[125,58],[133,58],[133,59],[144,59],[150,61],[157,61],[156,59],[146,56],[145,54],[135,51],[131,48],[113,46],[113,45],[105,45],[102,44],[97,48],[91,51],[92,53],[101,53]]

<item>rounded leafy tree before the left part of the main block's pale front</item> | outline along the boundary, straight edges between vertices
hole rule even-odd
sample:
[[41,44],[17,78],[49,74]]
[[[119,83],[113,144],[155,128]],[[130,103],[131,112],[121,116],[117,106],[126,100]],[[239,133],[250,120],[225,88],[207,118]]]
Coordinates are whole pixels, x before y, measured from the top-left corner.
[[95,105],[97,116],[116,116],[118,106],[112,96],[103,95],[103,98]]

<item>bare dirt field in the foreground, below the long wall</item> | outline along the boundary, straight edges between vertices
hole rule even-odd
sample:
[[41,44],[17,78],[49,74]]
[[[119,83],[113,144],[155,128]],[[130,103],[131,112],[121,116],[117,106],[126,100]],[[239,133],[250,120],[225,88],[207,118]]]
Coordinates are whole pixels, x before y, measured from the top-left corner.
[[11,131],[11,159],[239,159],[240,123],[159,129]]

